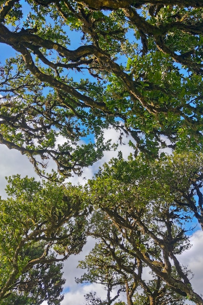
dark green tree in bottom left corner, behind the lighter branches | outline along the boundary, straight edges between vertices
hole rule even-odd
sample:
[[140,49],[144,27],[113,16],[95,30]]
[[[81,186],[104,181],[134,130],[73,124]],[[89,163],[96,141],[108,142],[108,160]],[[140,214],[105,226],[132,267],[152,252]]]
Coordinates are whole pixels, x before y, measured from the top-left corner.
[[[43,255],[44,243],[37,242],[27,247],[21,257],[29,260],[38,259]],[[26,257],[25,257],[26,256]],[[52,263],[38,263],[32,268],[18,274],[18,279],[0,301],[1,305],[40,305],[43,301],[48,304],[59,305],[63,300],[62,263],[55,263],[56,256],[51,254],[47,260]],[[2,272],[1,272],[2,274]],[[8,276],[8,275],[7,275]]]

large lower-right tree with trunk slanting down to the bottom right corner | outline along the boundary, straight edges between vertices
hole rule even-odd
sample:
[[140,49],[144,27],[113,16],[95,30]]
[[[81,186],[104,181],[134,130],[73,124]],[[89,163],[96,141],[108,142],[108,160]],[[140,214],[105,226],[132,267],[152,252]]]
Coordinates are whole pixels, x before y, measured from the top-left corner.
[[[188,205],[185,204],[184,208],[174,201],[174,194],[176,196],[176,191],[179,192],[179,184],[176,191],[173,189],[171,192],[168,187],[170,181],[167,184],[167,180],[154,179],[153,172],[150,175],[151,169],[157,166],[157,161],[150,164],[139,158],[129,162],[114,159],[111,165],[106,164],[96,178],[89,182],[88,191],[96,211],[88,234],[102,241],[118,267],[131,274],[131,280],[132,275],[136,274],[139,285],[149,298],[148,304],[159,304],[163,288],[160,280],[166,285],[164,289],[167,293],[174,298],[171,302],[178,302],[175,296],[178,294],[196,304],[203,304],[202,297],[192,289],[188,271],[178,260],[178,255],[188,247],[185,225],[191,221],[191,210],[188,212]],[[171,156],[168,158],[172,159]],[[189,164],[189,158],[187,161]],[[191,160],[191,164],[193,161]],[[166,159],[163,163],[166,166]],[[179,165],[183,170],[181,159]],[[173,166],[174,164],[171,164],[171,168]],[[162,169],[162,164],[157,168]],[[167,179],[167,168],[164,170]],[[189,168],[188,172],[193,170]],[[194,176],[196,173],[194,172]],[[181,180],[184,175],[178,177]],[[184,178],[188,191],[191,191],[190,185],[187,184],[187,174]],[[190,183],[192,181],[194,180],[191,175]],[[178,182],[181,184],[181,181]],[[174,181],[172,184],[175,185]],[[142,272],[136,273],[133,268],[128,268],[128,264],[122,263],[118,249],[124,257],[136,260],[138,271],[140,264],[151,269],[155,281],[160,285],[160,295],[156,293],[155,281],[153,285],[148,283],[146,287],[141,275],[138,276]],[[163,302],[166,303],[166,300]]]

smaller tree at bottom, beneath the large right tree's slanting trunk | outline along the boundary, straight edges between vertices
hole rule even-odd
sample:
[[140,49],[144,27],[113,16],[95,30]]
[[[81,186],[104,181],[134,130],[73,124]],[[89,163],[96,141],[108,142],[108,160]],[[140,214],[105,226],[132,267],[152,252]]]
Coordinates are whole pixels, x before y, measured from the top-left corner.
[[[115,240],[114,249],[110,250],[109,245],[102,241],[103,238],[106,239],[106,236],[101,234],[99,238],[101,242],[96,244],[85,260],[80,261],[78,265],[86,271],[81,278],[76,279],[77,283],[99,283],[107,290],[106,300],[102,301],[95,293],[91,293],[86,296],[88,301],[91,299],[92,304],[111,305],[124,291],[127,305],[185,303],[185,298],[167,286],[159,276],[153,274],[153,280],[145,279],[143,273],[147,273],[146,264],[141,260],[133,257],[130,252],[126,255]],[[111,297],[112,293],[114,293],[113,297]]]

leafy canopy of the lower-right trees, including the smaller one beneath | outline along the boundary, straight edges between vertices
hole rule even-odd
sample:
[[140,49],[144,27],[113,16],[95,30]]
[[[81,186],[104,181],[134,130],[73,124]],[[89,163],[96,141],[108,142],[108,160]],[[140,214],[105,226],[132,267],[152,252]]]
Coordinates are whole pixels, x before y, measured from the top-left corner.
[[[79,281],[102,283],[107,289],[103,303],[96,295],[88,295],[90,301],[110,305],[113,287],[116,298],[126,291],[128,305],[134,298],[150,305],[183,304],[185,299],[203,304],[189,270],[179,262],[189,247],[194,216],[203,225],[202,158],[202,153],[174,153],[152,161],[120,156],[89,181],[94,212],[88,234],[97,244],[79,264],[86,268]],[[152,280],[145,279],[148,272]]]

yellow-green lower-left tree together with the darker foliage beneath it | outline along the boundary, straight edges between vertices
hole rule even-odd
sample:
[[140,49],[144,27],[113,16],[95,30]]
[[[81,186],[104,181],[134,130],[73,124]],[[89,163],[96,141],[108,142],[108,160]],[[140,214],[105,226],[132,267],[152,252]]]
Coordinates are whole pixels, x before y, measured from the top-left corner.
[[86,242],[81,189],[19,175],[8,182],[9,197],[0,200],[0,304],[58,305],[60,262]]

